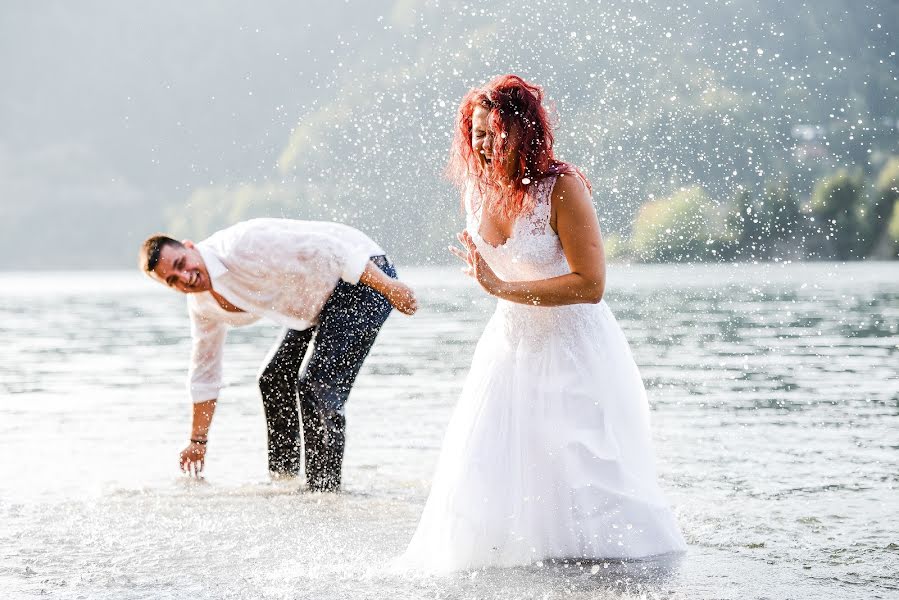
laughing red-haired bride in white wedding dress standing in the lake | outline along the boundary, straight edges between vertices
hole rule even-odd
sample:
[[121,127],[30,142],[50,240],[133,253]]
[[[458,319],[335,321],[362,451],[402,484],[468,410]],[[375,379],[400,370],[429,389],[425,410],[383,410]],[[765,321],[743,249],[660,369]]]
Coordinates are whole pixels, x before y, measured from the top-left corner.
[[590,184],[555,159],[542,100],[504,75],[459,109],[448,171],[467,226],[451,250],[499,301],[400,560],[409,568],[686,548],[656,482],[643,382],[602,301]]

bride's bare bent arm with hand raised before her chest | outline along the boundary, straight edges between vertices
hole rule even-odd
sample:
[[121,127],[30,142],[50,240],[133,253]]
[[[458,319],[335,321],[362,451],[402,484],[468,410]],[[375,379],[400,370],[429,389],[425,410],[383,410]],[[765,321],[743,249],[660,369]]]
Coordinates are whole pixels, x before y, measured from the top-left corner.
[[536,281],[503,281],[481,257],[468,232],[459,236],[465,251],[453,248],[453,253],[468,263],[466,273],[497,298],[538,306],[599,302],[605,291],[606,261],[590,194],[579,177],[562,176],[553,189],[552,203],[554,229],[571,273]]

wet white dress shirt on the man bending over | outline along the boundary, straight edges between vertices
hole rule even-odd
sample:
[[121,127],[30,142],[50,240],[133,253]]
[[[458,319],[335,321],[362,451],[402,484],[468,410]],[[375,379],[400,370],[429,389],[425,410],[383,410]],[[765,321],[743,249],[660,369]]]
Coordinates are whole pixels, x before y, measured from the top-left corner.
[[222,353],[230,327],[268,317],[307,329],[337,282],[356,284],[369,258],[384,254],[348,225],[291,219],[252,219],[197,244],[217,294],[244,312],[222,308],[209,292],[187,295],[193,350],[188,385],[194,402],[218,398]]

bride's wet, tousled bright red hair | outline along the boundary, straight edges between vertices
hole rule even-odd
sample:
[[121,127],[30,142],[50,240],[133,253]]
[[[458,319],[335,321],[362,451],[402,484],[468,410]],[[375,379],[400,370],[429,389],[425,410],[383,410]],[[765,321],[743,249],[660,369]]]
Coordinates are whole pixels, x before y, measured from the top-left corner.
[[[471,146],[472,115],[478,106],[489,111],[487,126],[494,134],[494,161],[503,164],[510,152],[518,152],[511,177],[503,169],[496,169],[494,176],[488,177]],[[513,142],[514,148],[510,147]],[[579,169],[556,160],[553,154],[553,123],[543,106],[543,89],[517,75],[500,75],[462,98],[446,171],[460,189],[473,181],[487,200],[488,209],[509,219],[533,210],[534,198],[527,193],[528,187],[545,177],[578,175],[590,189],[590,182]]]

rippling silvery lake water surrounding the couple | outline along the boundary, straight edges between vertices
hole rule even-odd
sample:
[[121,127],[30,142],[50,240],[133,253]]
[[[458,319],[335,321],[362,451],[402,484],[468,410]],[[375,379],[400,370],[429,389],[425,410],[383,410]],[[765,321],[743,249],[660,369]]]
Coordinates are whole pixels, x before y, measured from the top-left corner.
[[688,553],[443,578],[386,565],[493,302],[454,268],[401,274],[422,308],[357,381],[339,495],[268,480],[275,327],[232,332],[191,481],[184,299],[139,273],[0,274],[0,597],[899,597],[899,264],[612,266]]

